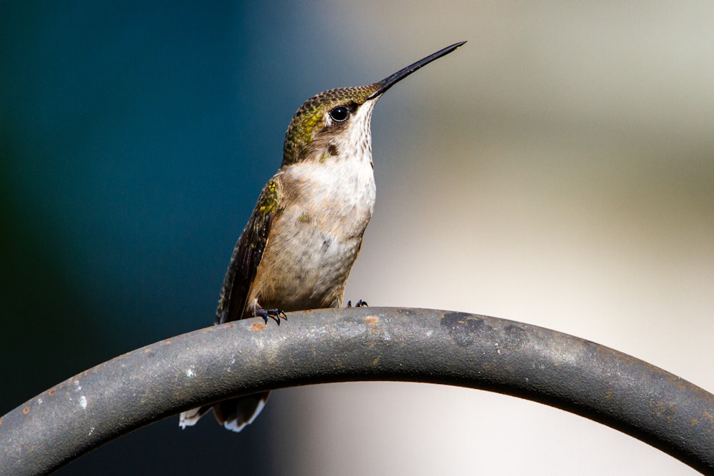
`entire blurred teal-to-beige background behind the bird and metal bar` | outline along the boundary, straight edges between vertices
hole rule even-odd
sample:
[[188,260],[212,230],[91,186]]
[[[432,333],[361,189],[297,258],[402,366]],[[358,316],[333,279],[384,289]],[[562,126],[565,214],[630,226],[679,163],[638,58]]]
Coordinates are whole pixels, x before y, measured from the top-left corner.
[[[714,6],[0,1],[0,415],[205,327],[294,111],[468,44],[373,116],[346,298],[495,315],[714,390]],[[58,474],[692,475],[638,440],[437,385],[280,390]]]

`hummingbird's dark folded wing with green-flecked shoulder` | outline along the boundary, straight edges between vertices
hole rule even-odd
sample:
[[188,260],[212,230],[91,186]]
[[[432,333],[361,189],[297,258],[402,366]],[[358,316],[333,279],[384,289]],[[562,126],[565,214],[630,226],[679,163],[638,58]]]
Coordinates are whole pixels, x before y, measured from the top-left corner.
[[280,210],[281,196],[281,182],[279,177],[275,176],[263,187],[253,215],[233,249],[231,263],[223,280],[221,298],[218,300],[216,324],[246,317],[243,313],[248,304],[248,291],[263,258],[273,218]]

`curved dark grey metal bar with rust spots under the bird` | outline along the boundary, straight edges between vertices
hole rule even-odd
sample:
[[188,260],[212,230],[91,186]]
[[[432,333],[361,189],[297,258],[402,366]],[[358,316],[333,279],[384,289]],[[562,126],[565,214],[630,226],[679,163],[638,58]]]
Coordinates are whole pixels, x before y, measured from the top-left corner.
[[357,380],[460,385],[543,402],[714,474],[714,395],[705,390],[553,330],[404,308],[294,312],[279,328],[240,320],[120,355],[2,417],[0,473],[49,472],[131,430],[224,397]]

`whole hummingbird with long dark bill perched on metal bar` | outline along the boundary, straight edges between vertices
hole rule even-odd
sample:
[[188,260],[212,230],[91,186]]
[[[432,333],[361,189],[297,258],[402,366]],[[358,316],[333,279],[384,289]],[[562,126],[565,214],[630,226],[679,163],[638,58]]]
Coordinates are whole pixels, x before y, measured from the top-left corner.
[[[368,86],[336,88],[298,108],[285,135],[283,161],[263,187],[223,280],[214,324],[342,305],[347,278],[374,209],[372,111],[394,84],[451,53],[459,43]],[[357,305],[366,305],[358,301]],[[182,412],[193,426],[213,409],[228,430],[255,420],[268,392]]]

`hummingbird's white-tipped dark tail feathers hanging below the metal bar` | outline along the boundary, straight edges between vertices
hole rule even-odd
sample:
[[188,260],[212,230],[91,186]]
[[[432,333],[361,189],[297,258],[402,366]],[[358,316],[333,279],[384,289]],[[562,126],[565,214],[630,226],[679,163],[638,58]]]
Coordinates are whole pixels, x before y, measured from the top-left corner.
[[196,422],[203,415],[206,415],[208,410],[213,408],[213,415],[216,416],[218,423],[223,425],[226,430],[238,432],[256,419],[266,405],[268,395],[270,395],[270,392],[253,393],[253,395],[246,395],[245,397],[223,400],[215,405],[193,408],[193,410],[181,413],[178,418],[178,425],[184,429],[187,426],[196,425]]

